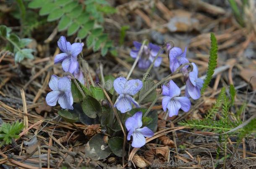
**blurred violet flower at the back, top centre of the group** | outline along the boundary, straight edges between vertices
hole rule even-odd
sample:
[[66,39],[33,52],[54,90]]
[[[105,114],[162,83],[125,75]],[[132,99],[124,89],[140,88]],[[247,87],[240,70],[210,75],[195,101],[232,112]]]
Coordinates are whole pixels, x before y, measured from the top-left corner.
[[[135,46],[135,50],[131,50],[130,55],[132,58],[136,58],[138,55],[138,52],[141,48],[141,43],[134,41],[133,45]],[[157,45],[154,45],[152,43],[149,43],[148,46],[144,45],[143,52],[138,60],[138,67],[141,69],[149,68],[150,64],[154,61],[154,58],[157,56],[157,53],[161,50],[161,48]],[[159,57],[156,59],[154,63],[154,67],[159,67],[162,62],[162,57]]]

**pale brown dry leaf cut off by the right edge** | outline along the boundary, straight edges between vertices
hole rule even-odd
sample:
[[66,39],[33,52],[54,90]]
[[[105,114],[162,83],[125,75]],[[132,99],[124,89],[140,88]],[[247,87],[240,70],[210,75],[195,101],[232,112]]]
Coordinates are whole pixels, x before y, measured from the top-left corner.
[[[253,91],[256,90],[256,68],[254,69],[246,69],[244,68],[241,72],[240,72],[240,76],[247,81],[248,83],[251,84],[251,87],[253,88]],[[250,81],[251,80],[251,81]]]

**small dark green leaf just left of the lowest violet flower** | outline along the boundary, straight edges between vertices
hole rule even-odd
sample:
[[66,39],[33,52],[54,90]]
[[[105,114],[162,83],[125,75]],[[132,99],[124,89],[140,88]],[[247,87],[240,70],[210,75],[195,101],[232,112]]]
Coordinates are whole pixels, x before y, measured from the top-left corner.
[[113,137],[108,139],[107,144],[110,146],[111,151],[121,157],[123,151],[123,139],[121,137]]

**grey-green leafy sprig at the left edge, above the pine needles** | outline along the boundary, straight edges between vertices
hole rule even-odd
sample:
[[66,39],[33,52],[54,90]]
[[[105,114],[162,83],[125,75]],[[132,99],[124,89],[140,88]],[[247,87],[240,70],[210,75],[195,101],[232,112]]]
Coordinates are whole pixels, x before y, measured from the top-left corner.
[[14,53],[16,63],[23,61],[24,58],[34,59],[32,54],[34,50],[25,48],[31,43],[31,39],[19,38],[15,33],[11,33],[11,29],[5,25],[0,25],[0,37],[9,42],[7,50]]

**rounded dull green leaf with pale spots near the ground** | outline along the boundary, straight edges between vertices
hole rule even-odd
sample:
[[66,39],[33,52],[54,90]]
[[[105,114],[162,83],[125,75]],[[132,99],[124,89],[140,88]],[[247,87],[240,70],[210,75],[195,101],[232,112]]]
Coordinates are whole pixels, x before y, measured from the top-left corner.
[[96,134],[86,144],[85,154],[92,160],[106,159],[110,153],[110,147],[104,139],[104,134]]

